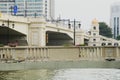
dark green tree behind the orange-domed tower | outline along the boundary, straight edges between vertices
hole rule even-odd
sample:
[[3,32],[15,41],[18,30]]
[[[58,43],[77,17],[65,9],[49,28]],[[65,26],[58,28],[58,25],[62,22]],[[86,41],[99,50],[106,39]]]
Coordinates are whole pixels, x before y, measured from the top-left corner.
[[105,22],[99,22],[99,30],[100,35],[112,38],[112,29]]

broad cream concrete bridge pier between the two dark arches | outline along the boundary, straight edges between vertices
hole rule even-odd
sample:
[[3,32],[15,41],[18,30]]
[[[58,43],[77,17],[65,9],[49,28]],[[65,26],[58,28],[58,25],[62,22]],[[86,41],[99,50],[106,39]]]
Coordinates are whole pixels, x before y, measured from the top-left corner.
[[29,26],[28,44],[30,46],[45,46],[46,45],[46,31],[45,24],[31,23]]

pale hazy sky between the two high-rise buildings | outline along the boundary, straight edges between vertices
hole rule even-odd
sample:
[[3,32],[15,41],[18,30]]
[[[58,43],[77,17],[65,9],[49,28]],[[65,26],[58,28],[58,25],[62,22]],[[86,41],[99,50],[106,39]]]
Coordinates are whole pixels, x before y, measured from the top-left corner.
[[96,18],[110,25],[110,7],[120,0],[55,0],[55,16],[80,20],[83,29],[91,26]]

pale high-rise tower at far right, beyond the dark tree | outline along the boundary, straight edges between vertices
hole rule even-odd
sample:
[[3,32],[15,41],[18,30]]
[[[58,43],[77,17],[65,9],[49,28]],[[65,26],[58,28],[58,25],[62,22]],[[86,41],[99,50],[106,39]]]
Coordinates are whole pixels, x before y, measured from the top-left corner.
[[111,6],[111,18],[110,18],[113,38],[120,35],[120,2],[114,3]]

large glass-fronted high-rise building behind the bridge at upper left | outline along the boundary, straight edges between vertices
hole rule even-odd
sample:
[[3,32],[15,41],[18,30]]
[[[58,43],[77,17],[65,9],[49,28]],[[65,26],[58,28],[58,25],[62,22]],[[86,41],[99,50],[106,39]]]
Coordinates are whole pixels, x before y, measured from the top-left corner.
[[54,0],[0,0],[0,11],[14,15],[15,5],[16,16],[54,18]]

